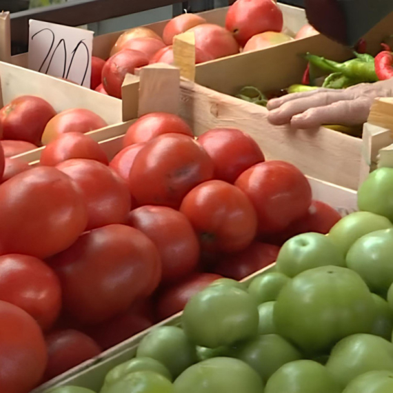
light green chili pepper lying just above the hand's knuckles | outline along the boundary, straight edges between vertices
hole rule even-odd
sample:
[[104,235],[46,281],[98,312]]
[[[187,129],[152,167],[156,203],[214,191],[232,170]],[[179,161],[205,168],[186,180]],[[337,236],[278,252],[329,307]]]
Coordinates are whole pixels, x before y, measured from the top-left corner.
[[341,72],[345,77],[356,79],[359,82],[376,82],[379,80],[372,62],[352,59],[345,61],[345,63],[337,63],[310,53],[306,54],[305,59],[325,72]]

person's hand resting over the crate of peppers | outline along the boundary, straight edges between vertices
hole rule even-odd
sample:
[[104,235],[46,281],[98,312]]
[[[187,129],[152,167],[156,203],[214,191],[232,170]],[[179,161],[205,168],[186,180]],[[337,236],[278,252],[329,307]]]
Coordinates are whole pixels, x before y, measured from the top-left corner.
[[367,121],[374,99],[393,97],[393,79],[361,83],[345,90],[320,88],[292,93],[268,102],[274,125],[316,128],[323,124],[360,125]]

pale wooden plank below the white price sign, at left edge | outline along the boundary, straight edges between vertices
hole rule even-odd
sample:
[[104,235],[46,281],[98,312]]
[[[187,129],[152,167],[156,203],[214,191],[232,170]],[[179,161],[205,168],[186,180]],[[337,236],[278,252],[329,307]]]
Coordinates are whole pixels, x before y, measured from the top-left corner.
[[122,121],[121,101],[114,97],[3,62],[0,62],[0,77],[4,105],[21,95],[39,95],[57,112],[85,108],[99,114],[108,124]]

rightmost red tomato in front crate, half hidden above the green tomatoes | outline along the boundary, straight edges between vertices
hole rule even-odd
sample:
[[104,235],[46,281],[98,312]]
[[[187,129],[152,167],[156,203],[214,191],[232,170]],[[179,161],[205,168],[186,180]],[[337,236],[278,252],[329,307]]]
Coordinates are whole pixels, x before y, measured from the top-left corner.
[[340,220],[341,215],[332,207],[321,201],[312,201],[305,216],[294,221],[294,223],[283,230],[283,232],[272,236],[265,236],[264,240],[269,241],[269,243],[283,245],[285,241],[296,236],[296,234],[306,232],[328,234],[333,225]]

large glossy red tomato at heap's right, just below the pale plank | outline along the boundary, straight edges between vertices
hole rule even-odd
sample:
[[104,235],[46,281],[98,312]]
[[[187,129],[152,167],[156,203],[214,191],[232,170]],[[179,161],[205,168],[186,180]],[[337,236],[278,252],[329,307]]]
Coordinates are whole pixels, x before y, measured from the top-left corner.
[[245,170],[236,180],[251,199],[259,233],[280,232],[304,216],[311,205],[311,187],[303,173],[284,161],[267,161]]

